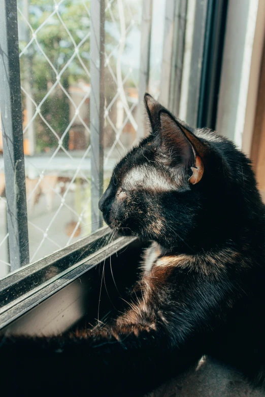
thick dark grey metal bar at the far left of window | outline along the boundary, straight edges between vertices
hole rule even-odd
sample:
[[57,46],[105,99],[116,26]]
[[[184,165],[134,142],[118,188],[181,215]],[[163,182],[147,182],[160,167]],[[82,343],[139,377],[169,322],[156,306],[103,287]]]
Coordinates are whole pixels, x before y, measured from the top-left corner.
[[0,107],[11,271],[29,262],[16,0],[0,2]]

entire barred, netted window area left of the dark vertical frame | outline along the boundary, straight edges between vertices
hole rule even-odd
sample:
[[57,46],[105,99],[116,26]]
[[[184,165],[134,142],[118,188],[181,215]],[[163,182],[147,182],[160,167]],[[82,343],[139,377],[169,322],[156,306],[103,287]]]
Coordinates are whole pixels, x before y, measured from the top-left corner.
[[213,4],[0,2],[0,276],[103,225],[111,169],[147,134],[146,91],[197,124]]

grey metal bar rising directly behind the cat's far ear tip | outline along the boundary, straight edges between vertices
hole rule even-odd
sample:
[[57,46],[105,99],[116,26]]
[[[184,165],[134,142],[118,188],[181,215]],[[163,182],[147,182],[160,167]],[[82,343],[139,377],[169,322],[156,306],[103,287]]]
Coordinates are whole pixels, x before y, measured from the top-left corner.
[[143,2],[142,23],[141,23],[141,47],[140,47],[140,70],[139,70],[139,104],[138,104],[138,130],[137,137],[142,139],[147,131],[145,129],[143,99],[144,94],[148,91],[149,72],[150,72],[150,48],[151,48],[151,31],[152,31],[152,9],[153,0]]

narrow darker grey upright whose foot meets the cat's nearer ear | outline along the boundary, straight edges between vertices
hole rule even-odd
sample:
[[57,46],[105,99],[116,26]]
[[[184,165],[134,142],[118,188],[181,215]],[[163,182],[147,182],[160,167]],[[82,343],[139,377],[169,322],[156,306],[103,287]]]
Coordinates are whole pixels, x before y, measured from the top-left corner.
[[182,69],[185,46],[187,0],[178,0],[175,7],[172,71],[169,92],[169,110],[179,116]]

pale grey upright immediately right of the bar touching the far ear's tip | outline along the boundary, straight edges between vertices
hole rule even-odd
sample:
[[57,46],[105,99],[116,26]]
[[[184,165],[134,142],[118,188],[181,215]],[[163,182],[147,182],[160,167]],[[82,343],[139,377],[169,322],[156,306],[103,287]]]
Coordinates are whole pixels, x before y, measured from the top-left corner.
[[172,0],[167,0],[165,3],[163,55],[159,95],[159,102],[165,107],[169,107],[175,9],[178,7],[178,3],[179,2],[173,2]]

